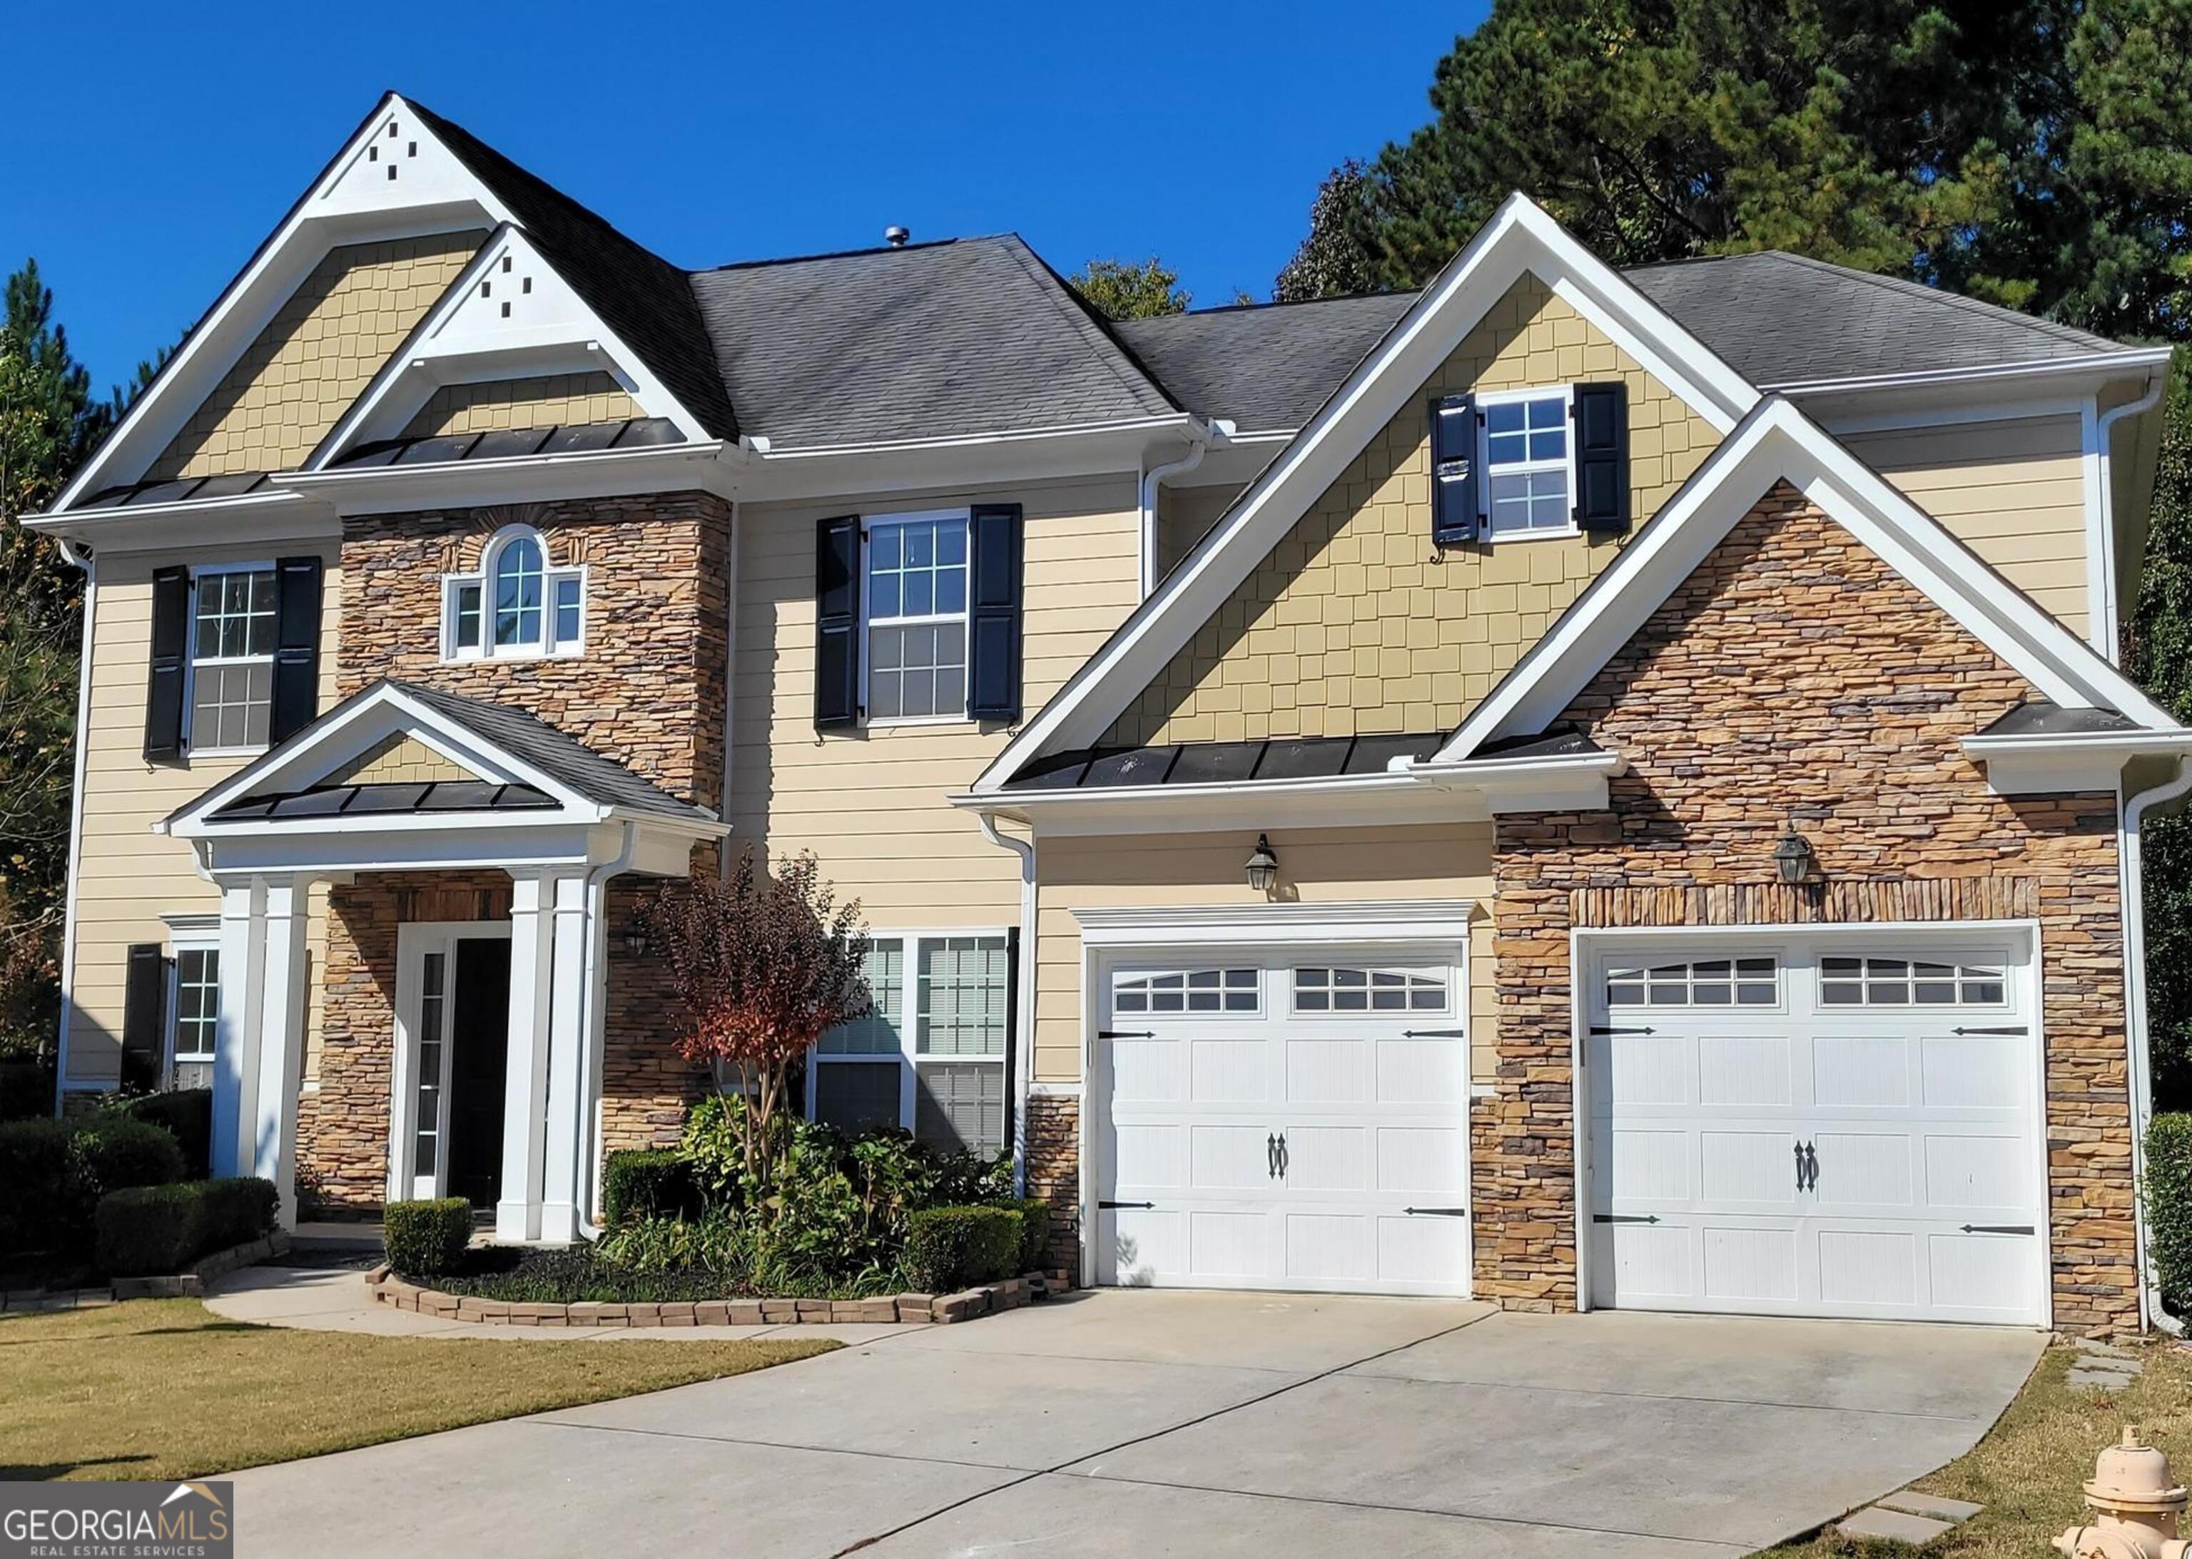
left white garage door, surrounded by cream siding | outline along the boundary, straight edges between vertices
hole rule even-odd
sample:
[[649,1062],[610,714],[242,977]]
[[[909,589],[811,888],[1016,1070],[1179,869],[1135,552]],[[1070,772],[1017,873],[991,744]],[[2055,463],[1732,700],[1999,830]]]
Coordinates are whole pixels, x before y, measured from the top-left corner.
[[1098,1283],[1469,1290],[1455,966],[1199,955],[1103,981]]

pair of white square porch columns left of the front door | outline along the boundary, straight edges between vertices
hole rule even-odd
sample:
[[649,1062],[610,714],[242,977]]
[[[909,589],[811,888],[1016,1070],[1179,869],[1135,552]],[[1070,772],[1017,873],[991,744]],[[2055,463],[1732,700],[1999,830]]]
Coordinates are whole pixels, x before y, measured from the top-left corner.
[[213,1174],[272,1180],[285,1228],[296,1226],[305,891],[302,876],[252,876],[221,885]]

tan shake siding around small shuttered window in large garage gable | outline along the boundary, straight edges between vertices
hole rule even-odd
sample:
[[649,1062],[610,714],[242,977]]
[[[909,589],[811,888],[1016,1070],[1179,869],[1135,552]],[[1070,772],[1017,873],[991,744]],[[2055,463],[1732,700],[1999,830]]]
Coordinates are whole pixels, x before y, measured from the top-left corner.
[[1129,705],[1107,744],[1460,725],[1616,554],[1585,536],[1434,554],[1431,394],[1629,383],[1631,501],[1648,519],[1719,442],[1526,276]]

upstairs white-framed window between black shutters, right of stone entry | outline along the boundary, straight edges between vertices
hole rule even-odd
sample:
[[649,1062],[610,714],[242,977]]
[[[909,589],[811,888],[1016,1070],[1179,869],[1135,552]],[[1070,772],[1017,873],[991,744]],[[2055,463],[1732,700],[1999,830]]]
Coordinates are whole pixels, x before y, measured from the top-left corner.
[[967,510],[868,521],[870,723],[967,718]]

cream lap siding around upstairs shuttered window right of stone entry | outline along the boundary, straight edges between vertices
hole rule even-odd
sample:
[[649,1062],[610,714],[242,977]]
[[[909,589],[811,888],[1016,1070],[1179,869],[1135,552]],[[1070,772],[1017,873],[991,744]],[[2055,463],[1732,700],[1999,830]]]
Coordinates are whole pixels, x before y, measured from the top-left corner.
[[[870,501],[870,515],[1011,499],[1026,515],[1024,703],[1032,716],[1133,611],[1133,477]],[[875,931],[1019,924],[1019,856],[945,806],[1004,749],[993,725],[813,729],[815,519],[850,504],[739,508],[732,847],[813,850]]]

